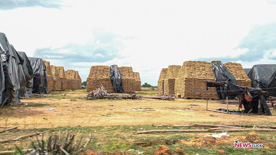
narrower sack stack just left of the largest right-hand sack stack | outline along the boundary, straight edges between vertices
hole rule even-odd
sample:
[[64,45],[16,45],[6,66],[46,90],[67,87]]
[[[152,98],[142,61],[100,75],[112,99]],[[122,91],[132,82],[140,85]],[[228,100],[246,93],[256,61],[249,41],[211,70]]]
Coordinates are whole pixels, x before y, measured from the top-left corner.
[[164,80],[164,95],[175,94],[175,80],[180,68],[181,66],[178,65],[168,66],[166,79]]

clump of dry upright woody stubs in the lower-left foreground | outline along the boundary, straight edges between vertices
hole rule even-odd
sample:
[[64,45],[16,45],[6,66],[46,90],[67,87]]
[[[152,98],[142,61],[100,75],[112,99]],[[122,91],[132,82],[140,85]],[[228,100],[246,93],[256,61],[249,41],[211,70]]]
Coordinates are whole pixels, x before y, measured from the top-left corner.
[[[35,142],[32,142],[33,150],[27,151],[24,155],[48,155],[48,154],[65,154],[69,155],[70,153],[76,153],[84,150],[87,144],[93,139],[91,136],[88,137],[85,144],[82,144],[83,137],[75,136],[68,134],[68,131],[65,137],[61,137],[61,135],[55,135],[53,138],[50,136],[45,145],[45,141],[43,140],[43,135],[41,141],[37,139],[37,145]],[[18,148],[17,148],[18,149]],[[18,151],[23,155],[20,149]]]

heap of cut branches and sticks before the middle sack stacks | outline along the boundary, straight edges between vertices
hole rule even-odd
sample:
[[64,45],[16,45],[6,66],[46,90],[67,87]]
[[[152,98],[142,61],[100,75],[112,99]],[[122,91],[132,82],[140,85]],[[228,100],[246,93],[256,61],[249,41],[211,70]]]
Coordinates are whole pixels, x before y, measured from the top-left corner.
[[111,94],[106,92],[103,86],[98,88],[97,90],[90,92],[86,97],[81,97],[81,99],[86,100],[94,100],[94,99],[115,99],[115,100],[121,100],[121,99],[135,99],[140,100],[142,98],[148,98],[148,99],[159,99],[159,100],[174,100],[173,96],[168,95],[162,95],[162,96],[142,96],[137,94]]

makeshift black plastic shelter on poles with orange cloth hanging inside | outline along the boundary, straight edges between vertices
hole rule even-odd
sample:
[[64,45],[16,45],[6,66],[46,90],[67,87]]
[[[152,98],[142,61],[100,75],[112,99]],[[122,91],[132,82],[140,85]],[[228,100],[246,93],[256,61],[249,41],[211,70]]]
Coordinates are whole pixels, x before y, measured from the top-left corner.
[[[244,105],[244,113],[253,111],[261,115],[272,115],[267,103],[265,101],[264,93],[261,88],[252,87],[242,87],[230,82],[229,80],[225,82],[212,82],[207,81],[206,87],[224,87],[222,91],[228,99],[235,99],[236,97],[240,99],[241,103]],[[207,100],[207,110],[208,110],[208,100]],[[228,109],[227,109],[228,112]]]

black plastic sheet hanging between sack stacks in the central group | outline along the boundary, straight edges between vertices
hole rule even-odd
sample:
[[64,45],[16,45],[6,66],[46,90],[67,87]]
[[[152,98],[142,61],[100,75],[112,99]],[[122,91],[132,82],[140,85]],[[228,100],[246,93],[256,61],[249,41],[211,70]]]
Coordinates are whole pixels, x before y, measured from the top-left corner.
[[116,93],[123,93],[122,75],[117,65],[110,66],[110,80]]

